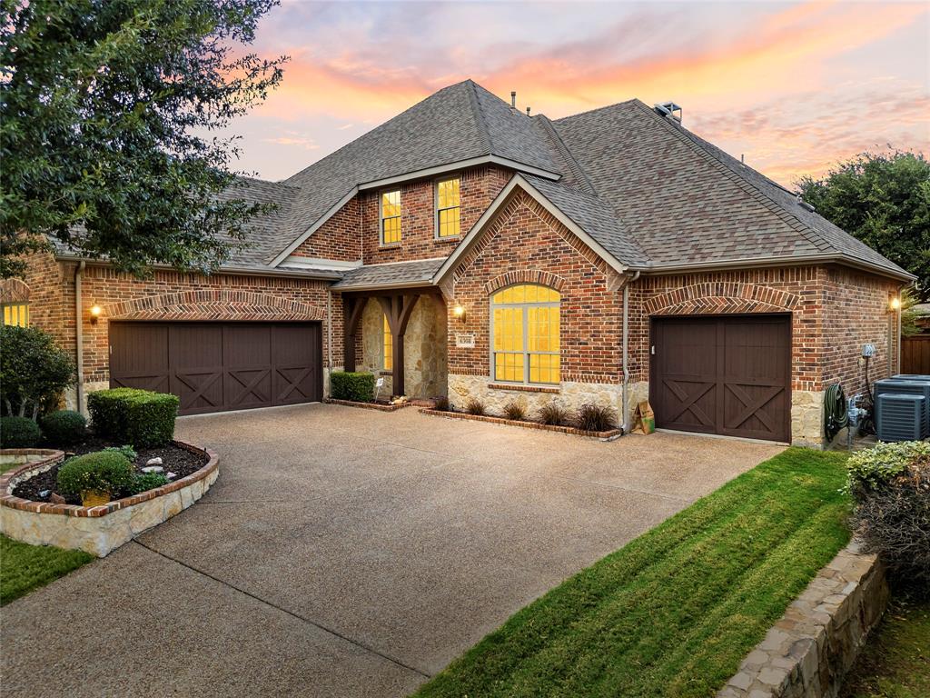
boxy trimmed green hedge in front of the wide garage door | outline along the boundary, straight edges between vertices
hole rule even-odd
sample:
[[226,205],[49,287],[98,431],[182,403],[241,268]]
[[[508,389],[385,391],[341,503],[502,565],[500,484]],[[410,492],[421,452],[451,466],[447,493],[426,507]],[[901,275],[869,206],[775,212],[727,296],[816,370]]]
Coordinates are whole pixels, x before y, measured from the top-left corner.
[[98,436],[137,449],[165,446],[174,438],[178,396],[136,388],[100,390],[87,396]]

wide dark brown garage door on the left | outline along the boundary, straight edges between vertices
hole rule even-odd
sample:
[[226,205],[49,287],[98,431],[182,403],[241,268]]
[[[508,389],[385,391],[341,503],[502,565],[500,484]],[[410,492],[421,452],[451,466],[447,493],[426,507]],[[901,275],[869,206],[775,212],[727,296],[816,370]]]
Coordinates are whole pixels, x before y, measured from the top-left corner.
[[313,402],[320,323],[113,322],[110,385],[174,393],[181,414]]

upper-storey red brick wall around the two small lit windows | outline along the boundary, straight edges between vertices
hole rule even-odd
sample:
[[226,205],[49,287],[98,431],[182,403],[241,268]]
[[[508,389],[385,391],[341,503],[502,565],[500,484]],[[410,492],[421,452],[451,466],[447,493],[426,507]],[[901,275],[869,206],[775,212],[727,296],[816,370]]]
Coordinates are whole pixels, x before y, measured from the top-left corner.
[[[461,173],[459,194],[463,236],[481,218],[510,178],[510,171],[495,167],[472,168]],[[365,264],[428,260],[452,253],[458,245],[458,237],[436,238],[435,186],[435,180],[408,182],[401,186],[401,242],[390,246],[380,244],[380,192],[360,195]]]

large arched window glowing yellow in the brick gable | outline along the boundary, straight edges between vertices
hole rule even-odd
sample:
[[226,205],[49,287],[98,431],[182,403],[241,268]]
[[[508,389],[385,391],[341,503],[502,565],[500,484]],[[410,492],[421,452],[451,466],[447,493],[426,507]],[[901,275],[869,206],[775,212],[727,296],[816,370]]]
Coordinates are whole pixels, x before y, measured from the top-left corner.
[[559,292],[537,284],[491,296],[491,369],[495,381],[559,383]]

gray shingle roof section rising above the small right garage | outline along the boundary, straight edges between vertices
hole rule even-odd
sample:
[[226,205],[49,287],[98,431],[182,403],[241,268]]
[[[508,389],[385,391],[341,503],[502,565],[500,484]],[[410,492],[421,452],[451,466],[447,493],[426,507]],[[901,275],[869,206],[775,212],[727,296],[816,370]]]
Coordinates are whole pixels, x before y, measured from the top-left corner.
[[554,126],[651,267],[840,254],[906,274],[641,101],[567,116]]

